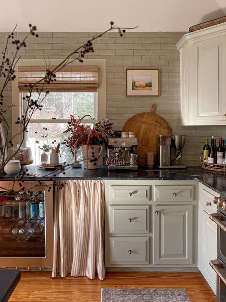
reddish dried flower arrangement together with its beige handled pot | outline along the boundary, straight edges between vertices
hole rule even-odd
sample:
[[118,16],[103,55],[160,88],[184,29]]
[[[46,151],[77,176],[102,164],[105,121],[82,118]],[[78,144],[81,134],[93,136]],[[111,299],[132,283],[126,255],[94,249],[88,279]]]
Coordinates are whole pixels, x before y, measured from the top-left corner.
[[[91,124],[82,124],[85,117],[92,120]],[[97,169],[98,159],[103,151],[103,144],[107,143],[107,137],[112,134],[112,123],[109,119],[94,122],[90,115],[84,115],[82,118],[75,119],[73,115],[68,122],[68,127],[64,133],[70,134],[62,144],[65,144],[72,152],[75,163],[77,162],[77,151],[81,147],[81,155],[85,169]]]

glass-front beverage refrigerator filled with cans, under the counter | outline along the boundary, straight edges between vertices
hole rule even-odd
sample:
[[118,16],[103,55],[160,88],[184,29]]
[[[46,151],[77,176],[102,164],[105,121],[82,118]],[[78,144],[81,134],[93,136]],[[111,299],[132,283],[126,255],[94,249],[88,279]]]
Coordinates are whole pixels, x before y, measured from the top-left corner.
[[[53,189],[24,181],[0,182],[0,268],[52,270]],[[13,186],[13,193],[7,191]]]

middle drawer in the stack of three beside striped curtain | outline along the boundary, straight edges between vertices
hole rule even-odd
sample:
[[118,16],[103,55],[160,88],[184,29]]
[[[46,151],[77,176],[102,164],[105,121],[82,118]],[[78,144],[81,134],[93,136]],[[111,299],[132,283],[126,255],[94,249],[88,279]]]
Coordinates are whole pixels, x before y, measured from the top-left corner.
[[110,233],[149,233],[149,205],[111,205]]

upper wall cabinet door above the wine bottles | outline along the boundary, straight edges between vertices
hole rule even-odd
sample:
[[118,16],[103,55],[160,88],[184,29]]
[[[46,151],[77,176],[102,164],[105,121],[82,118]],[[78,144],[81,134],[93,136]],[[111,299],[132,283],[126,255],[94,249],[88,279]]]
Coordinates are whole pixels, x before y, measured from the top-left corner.
[[225,46],[222,38],[197,41],[188,46],[188,125],[226,124]]

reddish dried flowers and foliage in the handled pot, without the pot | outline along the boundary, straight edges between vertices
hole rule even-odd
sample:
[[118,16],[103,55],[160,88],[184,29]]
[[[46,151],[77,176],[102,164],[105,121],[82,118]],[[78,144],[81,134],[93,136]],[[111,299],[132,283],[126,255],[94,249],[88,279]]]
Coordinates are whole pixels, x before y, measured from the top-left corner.
[[[85,117],[89,117],[92,123],[89,125],[82,124]],[[109,119],[102,119],[101,121],[94,122],[94,119],[90,115],[84,115],[82,118],[74,118],[70,116],[71,120],[68,122],[68,127],[64,133],[70,134],[62,144],[65,144],[73,156],[76,155],[77,150],[82,145],[98,145],[107,142],[107,137],[112,136],[112,123]]]

